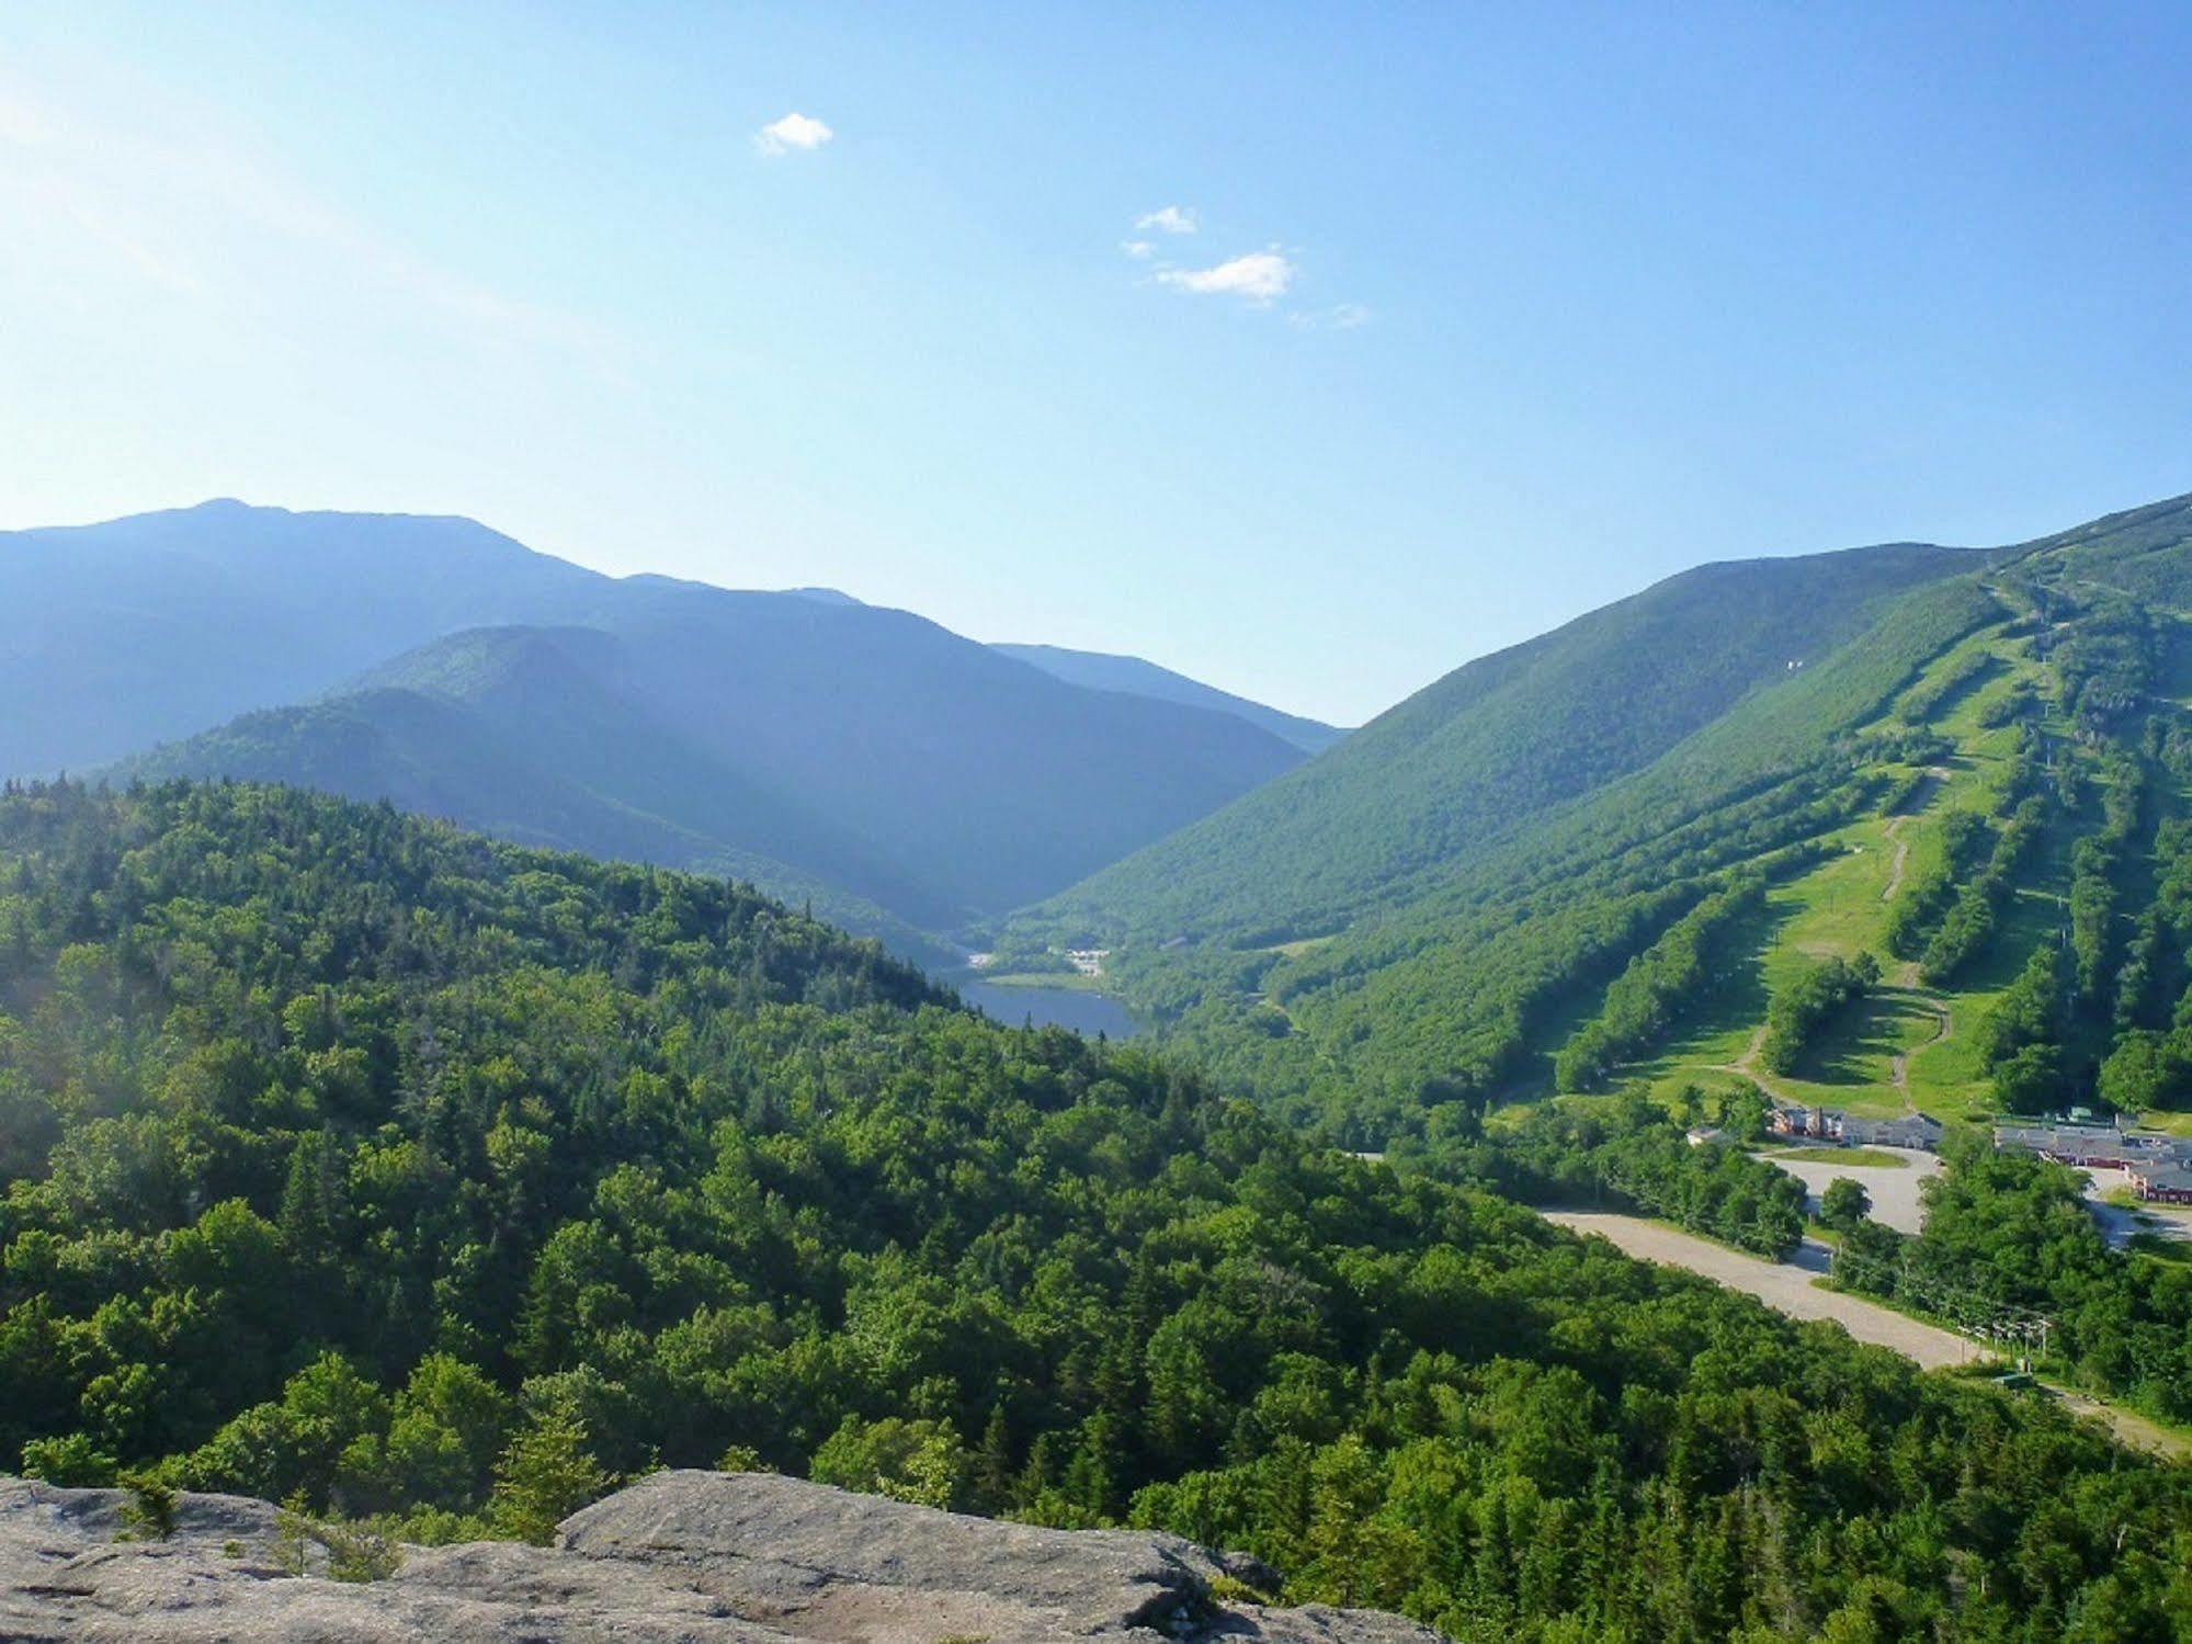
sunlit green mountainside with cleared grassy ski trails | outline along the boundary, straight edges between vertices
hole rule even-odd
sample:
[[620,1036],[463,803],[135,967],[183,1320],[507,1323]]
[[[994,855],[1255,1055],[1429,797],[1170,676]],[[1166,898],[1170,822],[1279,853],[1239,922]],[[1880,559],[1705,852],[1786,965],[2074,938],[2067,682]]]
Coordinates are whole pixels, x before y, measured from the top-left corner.
[[[1197,886],[1111,927],[1074,923],[1072,910],[1258,809],[1252,796],[1037,910],[1021,938],[1107,938],[1107,984],[1173,1041],[1357,1146],[1436,1131],[1453,1100],[1548,1094],[1563,1050],[1569,1085],[1591,1065],[1580,1087],[1642,1078],[1668,1098],[1749,1076],[1881,1114],[2096,1094],[2192,1107],[2192,1028],[2174,1026],[2192,938],[2192,888],[2177,888],[2192,881],[2177,866],[2192,504],[1984,563],[1870,603],[1852,640],[1653,763],[1436,870],[1398,872],[1337,929],[1236,925],[1166,945],[1168,925],[1138,923]],[[1274,787],[1306,798],[1339,783],[1346,752]],[[1431,783],[1409,772],[1344,798],[1370,815],[1388,789]],[[1274,820],[1258,859],[1326,826]],[[1736,886],[1751,890],[1705,910]],[[2058,949],[2052,978],[2014,991],[2043,947]],[[1773,1002],[1859,954],[1883,982],[1776,1072],[1762,1061]],[[2023,1028],[1988,1028],[2019,1006]]]

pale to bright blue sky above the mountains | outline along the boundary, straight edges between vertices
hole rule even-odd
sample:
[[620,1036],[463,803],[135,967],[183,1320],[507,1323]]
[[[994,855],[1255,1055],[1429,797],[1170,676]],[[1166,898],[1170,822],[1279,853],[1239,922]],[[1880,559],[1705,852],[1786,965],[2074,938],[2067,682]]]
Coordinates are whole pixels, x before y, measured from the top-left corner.
[[2164,4],[15,0],[0,526],[469,513],[1355,721],[1705,559],[2192,489],[2188,59]]

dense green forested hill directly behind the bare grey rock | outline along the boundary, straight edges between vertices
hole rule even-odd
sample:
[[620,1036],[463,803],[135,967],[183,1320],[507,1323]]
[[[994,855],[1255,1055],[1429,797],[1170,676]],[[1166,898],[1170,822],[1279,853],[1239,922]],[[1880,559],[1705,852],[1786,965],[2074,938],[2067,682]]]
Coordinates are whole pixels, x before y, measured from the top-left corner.
[[546,1537],[614,1475],[767,1464],[1462,1640],[2192,1616],[2181,1469],[721,881],[296,789],[9,791],[0,1120],[0,1469],[140,1469],[153,1515]]

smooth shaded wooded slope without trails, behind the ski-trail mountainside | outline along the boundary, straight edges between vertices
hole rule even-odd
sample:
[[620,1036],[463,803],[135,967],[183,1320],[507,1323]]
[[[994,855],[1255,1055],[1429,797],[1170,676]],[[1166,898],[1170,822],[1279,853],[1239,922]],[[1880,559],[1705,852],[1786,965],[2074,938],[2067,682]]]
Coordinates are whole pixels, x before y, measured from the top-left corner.
[[1890,546],[1703,566],[1455,669],[1280,783],[1074,886],[1032,923],[1103,943],[1328,936],[1517,824],[1648,765],[1747,693],[1968,568]]

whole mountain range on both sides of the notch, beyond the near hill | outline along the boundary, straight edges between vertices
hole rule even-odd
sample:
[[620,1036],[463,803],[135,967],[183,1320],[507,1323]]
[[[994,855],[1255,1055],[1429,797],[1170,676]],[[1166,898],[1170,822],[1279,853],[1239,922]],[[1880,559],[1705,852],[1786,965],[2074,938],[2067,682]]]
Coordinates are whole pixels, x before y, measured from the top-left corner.
[[[20,533],[0,592],[39,612],[0,655],[9,769],[298,783],[750,879],[932,967],[1098,986],[1361,1146],[1620,1081],[1881,1114],[2192,1092],[2185,498],[1701,566],[1344,737],[460,520]],[[1843,995],[1813,971],[1865,956],[1870,1000],[1769,1068],[1791,1000]]]

